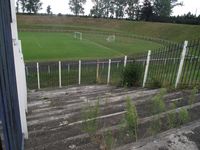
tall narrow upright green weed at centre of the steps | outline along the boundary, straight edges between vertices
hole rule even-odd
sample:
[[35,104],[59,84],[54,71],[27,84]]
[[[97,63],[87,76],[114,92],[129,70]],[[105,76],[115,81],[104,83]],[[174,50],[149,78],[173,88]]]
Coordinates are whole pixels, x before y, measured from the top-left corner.
[[125,125],[130,135],[137,140],[138,130],[138,114],[134,104],[131,103],[131,99],[126,100],[126,114],[125,114]]

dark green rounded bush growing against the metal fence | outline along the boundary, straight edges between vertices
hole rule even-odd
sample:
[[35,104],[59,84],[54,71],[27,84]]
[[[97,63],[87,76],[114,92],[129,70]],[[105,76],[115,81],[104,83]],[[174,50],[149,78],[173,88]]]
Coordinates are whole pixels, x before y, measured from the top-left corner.
[[139,86],[142,78],[142,66],[137,63],[132,63],[126,66],[122,73],[123,86]]

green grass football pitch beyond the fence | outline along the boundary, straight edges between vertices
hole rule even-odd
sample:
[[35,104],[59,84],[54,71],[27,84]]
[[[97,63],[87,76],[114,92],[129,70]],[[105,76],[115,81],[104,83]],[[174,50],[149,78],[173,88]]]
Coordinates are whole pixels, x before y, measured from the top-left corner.
[[19,32],[25,61],[94,60],[134,55],[154,50],[163,45],[126,36],[116,36],[107,41],[108,35],[83,33],[75,39],[74,33]]

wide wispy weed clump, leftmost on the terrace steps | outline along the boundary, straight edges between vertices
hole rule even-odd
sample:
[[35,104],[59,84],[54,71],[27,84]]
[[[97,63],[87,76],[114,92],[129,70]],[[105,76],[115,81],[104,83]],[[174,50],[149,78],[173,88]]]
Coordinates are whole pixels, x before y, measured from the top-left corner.
[[83,131],[87,132],[89,135],[94,135],[98,129],[98,119],[99,116],[99,100],[96,102],[95,106],[88,105],[83,110]]

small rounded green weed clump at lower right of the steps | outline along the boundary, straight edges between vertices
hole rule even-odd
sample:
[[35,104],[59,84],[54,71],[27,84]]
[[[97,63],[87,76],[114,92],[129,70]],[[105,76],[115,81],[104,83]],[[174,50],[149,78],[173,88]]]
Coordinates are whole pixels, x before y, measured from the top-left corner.
[[181,108],[178,113],[178,125],[183,125],[190,120],[188,110]]

